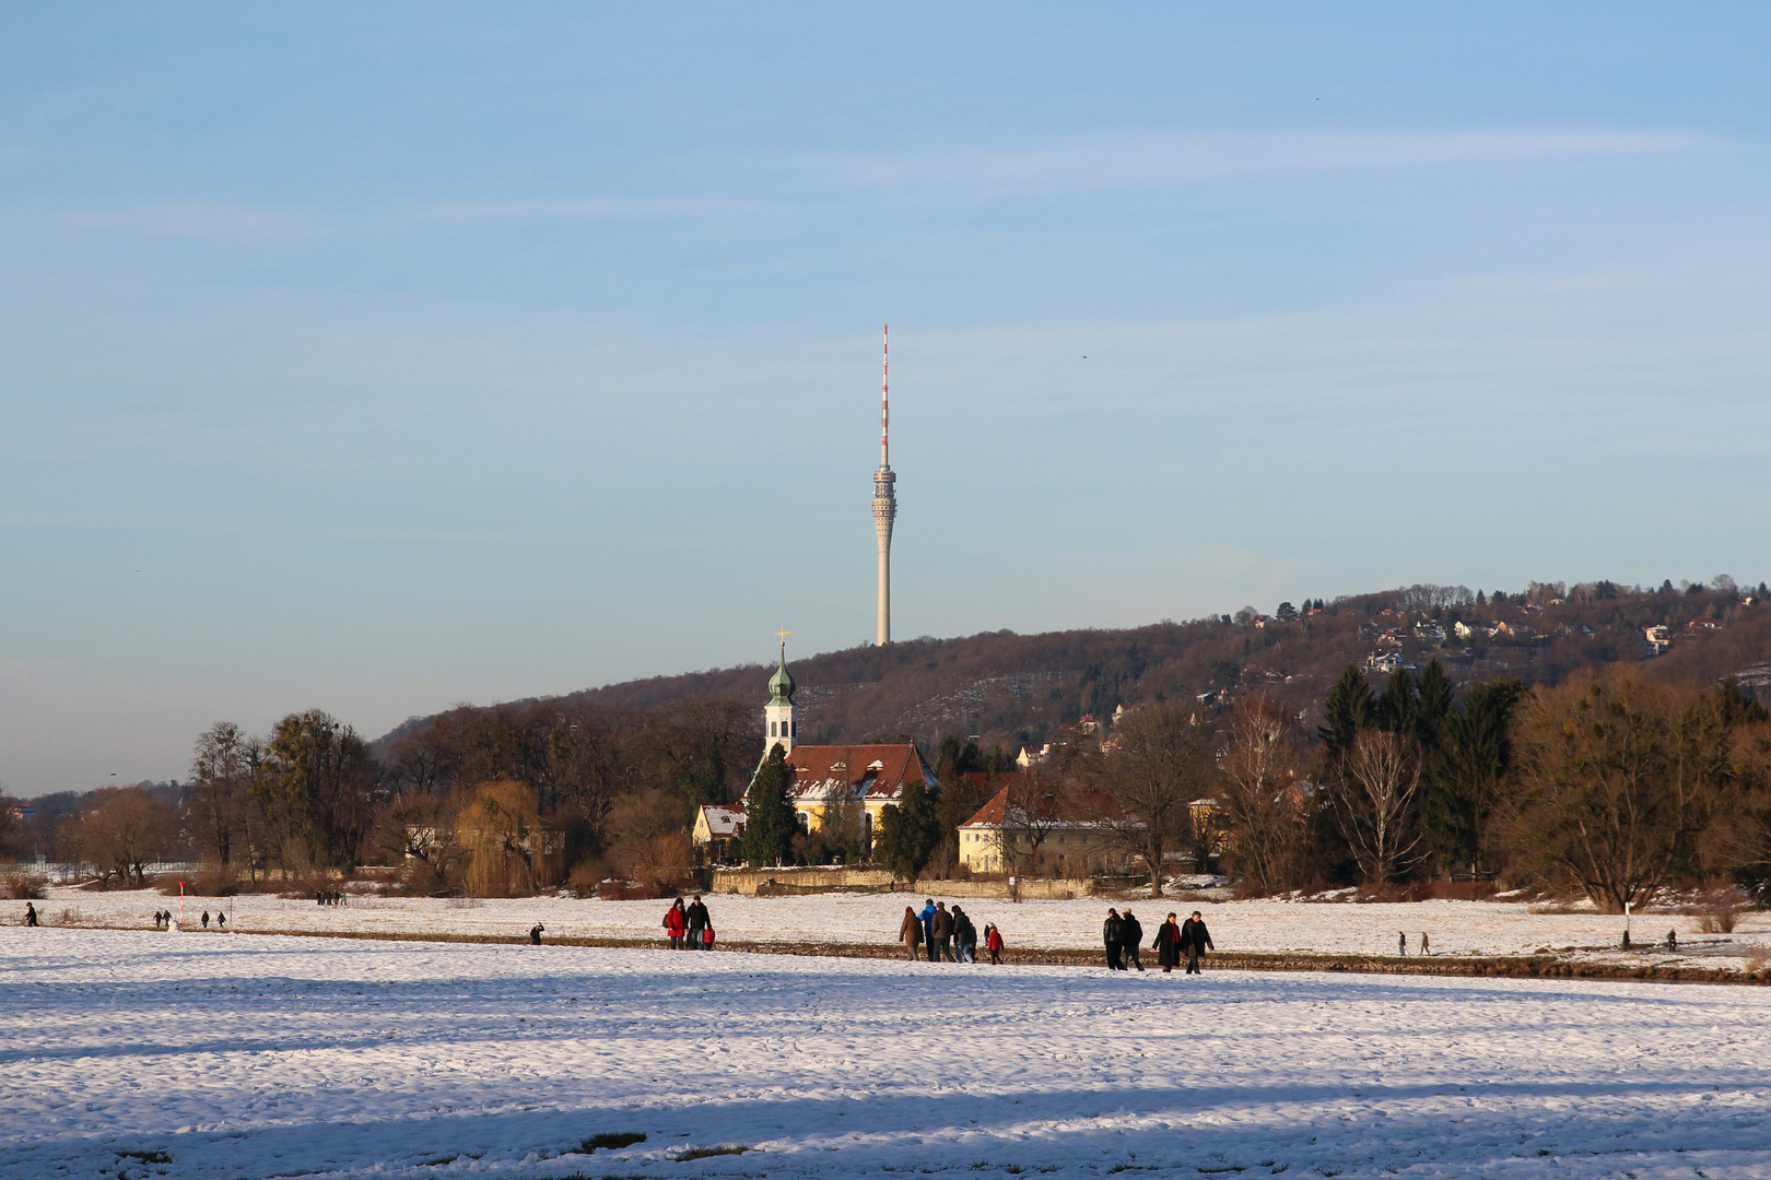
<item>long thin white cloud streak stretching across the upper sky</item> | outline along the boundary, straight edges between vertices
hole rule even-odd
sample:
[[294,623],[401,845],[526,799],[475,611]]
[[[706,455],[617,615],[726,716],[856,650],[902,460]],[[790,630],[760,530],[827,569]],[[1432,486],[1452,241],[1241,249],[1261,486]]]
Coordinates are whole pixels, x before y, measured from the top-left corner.
[[161,202],[103,209],[0,207],[14,230],[202,239],[216,244],[305,242],[498,223],[694,221],[781,212],[857,195],[979,200],[1066,191],[1187,188],[1266,175],[1571,161],[1737,150],[1688,131],[1502,127],[1488,131],[1321,131],[1114,134],[1034,150],[939,149],[901,154],[737,156],[678,161],[694,191],[721,177],[719,196],[565,195],[381,202],[356,207]]

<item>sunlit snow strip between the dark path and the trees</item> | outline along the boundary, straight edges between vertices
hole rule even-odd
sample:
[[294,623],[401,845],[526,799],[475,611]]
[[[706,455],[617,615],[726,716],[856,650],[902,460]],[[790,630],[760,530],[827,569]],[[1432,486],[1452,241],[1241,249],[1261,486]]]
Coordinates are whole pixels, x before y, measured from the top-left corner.
[[[923,897],[909,893],[825,893],[816,897],[707,899],[721,941],[774,943],[862,943],[884,945],[898,938],[903,908]],[[953,904],[949,900],[947,904]],[[1204,911],[1218,950],[1259,954],[1394,955],[1397,934],[1408,934],[1410,954],[1420,950],[1420,934],[1436,955],[1528,955],[1573,954],[1585,961],[1608,961],[1624,920],[1599,913],[1530,913],[1514,902],[1179,902],[1172,899],[1110,902],[1079,900],[958,899],[981,931],[985,922],[1002,929],[1009,948],[1086,950],[1100,946],[1102,918],[1109,906],[1132,906],[1144,923],[1146,943],[1155,938],[1162,915]],[[51,923],[149,927],[154,909],[177,909],[177,899],[154,892],[89,893],[74,888],[50,890],[41,908]],[[345,906],[315,906],[303,899],[243,893],[227,899],[186,899],[195,925],[204,911],[228,909],[237,931],[347,932],[347,934],[469,934],[519,936],[537,922],[551,938],[653,939],[662,938],[666,902],[604,902],[570,897],[526,897],[512,900],[466,900],[430,897],[360,897]],[[21,906],[19,906],[21,909]],[[1638,915],[1636,941],[1659,943],[1668,929],[1679,932],[1681,954],[1640,952],[1631,964],[1686,964],[1739,969],[1753,955],[1771,954],[1771,913],[1741,915],[1728,941],[1698,932],[1690,915]]]

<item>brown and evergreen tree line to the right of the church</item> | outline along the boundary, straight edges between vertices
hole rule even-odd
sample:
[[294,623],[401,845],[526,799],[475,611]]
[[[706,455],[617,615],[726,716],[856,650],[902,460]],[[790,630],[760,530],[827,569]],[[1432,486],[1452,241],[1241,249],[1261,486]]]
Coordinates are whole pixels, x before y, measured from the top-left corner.
[[[988,780],[1017,830],[1008,867],[1038,869],[1068,823],[1158,890],[1215,865],[1249,893],[1465,879],[1580,890],[1619,913],[1674,881],[1771,877],[1771,720],[1732,681],[1619,665],[1459,693],[1429,662],[1374,692],[1348,667],[1321,713],[1307,734],[1249,693],[1218,711],[1149,702],[1105,741],[1071,732],[1038,773]],[[946,789],[886,808],[882,863],[916,876],[933,858]]]

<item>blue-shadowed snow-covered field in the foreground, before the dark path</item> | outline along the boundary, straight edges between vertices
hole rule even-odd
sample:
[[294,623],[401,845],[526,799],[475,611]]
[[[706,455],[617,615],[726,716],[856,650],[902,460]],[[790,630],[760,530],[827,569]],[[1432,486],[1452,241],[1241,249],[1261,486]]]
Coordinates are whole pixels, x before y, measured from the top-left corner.
[[0,996],[9,1180],[1771,1176],[1757,987],[14,927]]

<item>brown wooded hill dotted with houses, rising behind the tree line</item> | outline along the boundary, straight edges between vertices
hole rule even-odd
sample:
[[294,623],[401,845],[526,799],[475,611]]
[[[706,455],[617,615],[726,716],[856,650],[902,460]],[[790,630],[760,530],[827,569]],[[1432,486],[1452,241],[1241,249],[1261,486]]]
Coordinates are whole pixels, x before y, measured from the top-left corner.
[[[1126,630],[962,639],[912,639],[793,658],[802,741],[841,743],[909,734],[928,747],[976,734],[979,745],[1040,745],[1059,727],[1141,701],[1201,699],[1218,706],[1263,690],[1303,713],[1314,732],[1323,695],[1346,665],[1394,655],[1417,667],[1438,658],[1456,685],[1496,676],[1558,683],[1580,667],[1645,663],[1658,678],[1741,676],[1771,701],[1771,607],[1766,589],[1732,580],[1658,591],[1612,582],[1530,584],[1493,600],[1461,586],[1411,586],[1337,598],[1321,609],[1252,609]],[[1284,617],[1282,617],[1284,616]],[[1458,624],[1472,628],[1459,637]],[[1667,626],[1670,647],[1651,656],[1643,628]],[[692,697],[756,706],[772,665],[655,676],[570,693],[565,702],[641,709]],[[1374,670],[1374,676],[1381,674]],[[413,718],[375,745],[423,727]],[[758,720],[760,725],[760,720]]]

